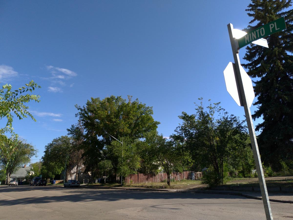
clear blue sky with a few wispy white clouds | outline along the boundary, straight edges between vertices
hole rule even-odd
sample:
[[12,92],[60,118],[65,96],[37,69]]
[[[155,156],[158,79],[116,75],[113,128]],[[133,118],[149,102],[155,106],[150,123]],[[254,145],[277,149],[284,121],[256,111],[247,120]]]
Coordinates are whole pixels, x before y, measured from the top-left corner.
[[[77,122],[75,104],[110,95],[153,106],[164,136],[174,132],[182,111],[195,112],[199,97],[206,105],[221,101],[244,119],[223,70],[233,61],[227,24],[246,28],[249,3],[1,1],[0,82],[17,89],[33,79],[42,86],[35,92],[40,103],[29,103],[37,122],[15,117],[14,131],[41,158],[45,145]],[[243,63],[244,54],[243,48]]]

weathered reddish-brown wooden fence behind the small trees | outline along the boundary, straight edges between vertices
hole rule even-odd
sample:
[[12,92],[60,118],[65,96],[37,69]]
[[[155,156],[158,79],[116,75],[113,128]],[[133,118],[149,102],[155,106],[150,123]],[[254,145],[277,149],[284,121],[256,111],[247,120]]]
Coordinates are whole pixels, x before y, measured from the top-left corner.
[[[198,180],[202,177],[202,172],[194,172],[195,180]],[[184,171],[182,173],[172,173],[171,179],[175,179],[175,181],[178,180],[190,180],[191,179],[191,171]],[[130,183],[151,183],[151,182],[162,182],[163,180],[167,179],[167,173],[159,173],[157,175],[153,174],[144,174],[144,173],[138,173],[138,174],[131,174],[129,175],[125,182],[127,184]]]

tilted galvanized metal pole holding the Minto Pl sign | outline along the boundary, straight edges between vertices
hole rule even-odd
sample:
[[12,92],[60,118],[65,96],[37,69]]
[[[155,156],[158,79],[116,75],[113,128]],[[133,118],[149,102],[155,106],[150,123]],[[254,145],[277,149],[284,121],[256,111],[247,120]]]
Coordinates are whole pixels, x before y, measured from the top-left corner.
[[258,144],[256,141],[254,126],[253,126],[253,122],[252,122],[251,112],[250,112],[250,108],[248,106],[247,96],[244,91],[244,86],[243,86],[241,73],[240,73],[241,65],[240,65],[240,60],[239,60],[239,55],[238,55],[239,45],[238,45],[238,41],[235,38],[233,38],[233,34],[232,34],[233,25],[230,23],[227,26],[228,26],[229,37],[230,37],[231,47],[232,47],[232,51],[233,51],[236,73],[237,73],[239,88],[240,88],[240,92],[241,92],[242,102],[243,102],[243,106],[244,106],[245,117],[246,117],[246,121],[247,121],[252,151],[253,151],[254,162],[255,162],[256,170],[257,170],[257,174],[258,174],[260,191],[261,191],[261,195],[263,197],[265,216],[267,219],[273,219],[272,210],[271,210],[271,206],[270,206],[270,200],[269,200],[269,196],[268,196],[268,191],[267,191],[267,187],[265,185],[265,177],[263,175],[263,167],[262,167],[261,160],[260,160],[260,155],[259,155],[259,151],[258,151]]

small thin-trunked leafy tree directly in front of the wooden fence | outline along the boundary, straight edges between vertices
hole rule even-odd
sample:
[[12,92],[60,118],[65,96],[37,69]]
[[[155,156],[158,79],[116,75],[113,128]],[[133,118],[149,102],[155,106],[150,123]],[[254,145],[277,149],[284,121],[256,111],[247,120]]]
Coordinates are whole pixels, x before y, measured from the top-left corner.
[[183,172],[192,164],[190,152],[179,141],[167,140],[163,135],[149,133],[146,142],[152,148],[156,163],[163,167],[167,174],[167,184],[170,186],[172,172]]

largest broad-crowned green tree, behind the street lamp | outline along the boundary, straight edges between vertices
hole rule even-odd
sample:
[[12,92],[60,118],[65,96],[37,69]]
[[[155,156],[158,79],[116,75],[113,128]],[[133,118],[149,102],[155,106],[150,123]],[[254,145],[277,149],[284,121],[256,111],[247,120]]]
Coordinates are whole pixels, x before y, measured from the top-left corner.
[[[128,101],[120,96],[110,96],[101,100],[100,98],[91,98],[86,103],[86,106],[76,106],[79,110],[77,117],[84,127],[84,161],[87,163],[86,170],[98,170],[97,164],[102,160],[110,160],[113,165],[115,180],[116,174],[126,175],[130,170],[126,169],[125,163],[133,164],[131,169],[138,167],[134,161],[138,160],[138,156],[132,154],[137,152],[135,149],[136,141],[144,138],[144,135],[156,130],[159,122],[154,121],[152,107],[136,99],[131,101],[128,96]],[[125,157],[128,152],[132,152],[132,158],[124,160],[122,164],[122,146],[116,143],[115,138],[125,142]],[[112,143],[113,142],[113,143]],[[127,145],[126,145],[127,143]],[[121,148],[117,153],[117,148]],[[123,146],[124,149],[124,146]],[[131,149],[131,150],[129,150]],[[129,151],[128,151],[129,150]],[[121,159],[120,159],[121,158]],[[134,165],[136,164],[136,165]]]

